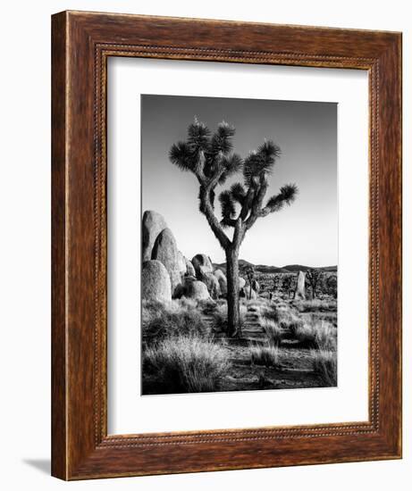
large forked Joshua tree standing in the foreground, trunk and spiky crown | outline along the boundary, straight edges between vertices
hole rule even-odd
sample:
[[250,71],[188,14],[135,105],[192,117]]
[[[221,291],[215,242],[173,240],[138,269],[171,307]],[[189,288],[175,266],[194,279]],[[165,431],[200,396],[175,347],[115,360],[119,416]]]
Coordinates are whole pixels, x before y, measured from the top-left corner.
[[[234,134],[235,129],[225,121],[212,134],[204,123],[195,118],[189,125],[187,140],[172,145],[169,153],[174,165],[181,171],[192,172],[198,179],[199,210],[206,216],[226,254],[230,336],[235,336],[240,328],[238,259],[245,234],[257,219],[279,212],[285,204],[290,204],[298,192],[294,184],[285,185],[264,204],[267,179],[281,149],[268,140],[242,160],[240,155],[232,153]],[[220,193],[222,220],[218,220],[214,214],[215,188],[240,172],[243,184],[236,182]],[[232,237],[225,232],[229,227],[233,229]]]

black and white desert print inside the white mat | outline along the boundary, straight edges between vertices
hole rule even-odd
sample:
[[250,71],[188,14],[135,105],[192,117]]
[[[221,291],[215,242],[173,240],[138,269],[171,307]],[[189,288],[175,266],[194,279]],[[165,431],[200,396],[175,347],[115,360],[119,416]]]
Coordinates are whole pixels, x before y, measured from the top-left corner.
[[337,387],[338,104],[140,104],[142,395]]

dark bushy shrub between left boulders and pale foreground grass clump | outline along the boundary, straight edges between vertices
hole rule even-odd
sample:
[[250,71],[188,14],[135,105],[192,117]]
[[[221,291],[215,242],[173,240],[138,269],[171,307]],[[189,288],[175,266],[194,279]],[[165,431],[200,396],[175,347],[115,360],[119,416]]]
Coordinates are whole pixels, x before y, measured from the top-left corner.
[[209,329],[197,310],[184,308],[182,305],[174,304],[171,307],[162,304],[156,312],[142,315],[142,337],[148,345],[165,337],[184,335],[209,336]]

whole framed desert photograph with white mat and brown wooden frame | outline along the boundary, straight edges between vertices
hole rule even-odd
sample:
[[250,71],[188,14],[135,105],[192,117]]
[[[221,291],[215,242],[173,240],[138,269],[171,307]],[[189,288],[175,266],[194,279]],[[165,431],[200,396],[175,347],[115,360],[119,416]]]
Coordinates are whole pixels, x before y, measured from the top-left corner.
[[52,18],[52,473],[401,457],[401,35]]

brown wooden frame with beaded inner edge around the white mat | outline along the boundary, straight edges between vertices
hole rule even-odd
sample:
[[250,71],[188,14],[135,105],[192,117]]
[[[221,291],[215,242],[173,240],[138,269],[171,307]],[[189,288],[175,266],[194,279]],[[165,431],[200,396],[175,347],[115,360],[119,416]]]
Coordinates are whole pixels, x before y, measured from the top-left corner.
[[[400,33],[90,12],[57,13],[52,28],[52,474],[92,479],[400,458]],[[368,71],[367,421],[107,436],[108,56]]]

